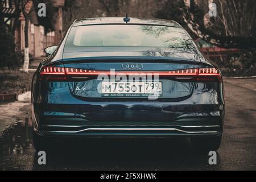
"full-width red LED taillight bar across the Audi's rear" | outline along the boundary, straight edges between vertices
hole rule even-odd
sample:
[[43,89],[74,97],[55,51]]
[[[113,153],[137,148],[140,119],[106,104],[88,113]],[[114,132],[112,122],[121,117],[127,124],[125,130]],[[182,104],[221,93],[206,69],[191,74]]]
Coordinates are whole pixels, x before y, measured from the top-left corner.
[[40,72],[42,80],[66,81],[70,78],[88,78],[98,75],[158,75],[171,77],[179,81],[221,82],[217,68],[193,68],[175,71],[96,71],[78,68],[44,67]]

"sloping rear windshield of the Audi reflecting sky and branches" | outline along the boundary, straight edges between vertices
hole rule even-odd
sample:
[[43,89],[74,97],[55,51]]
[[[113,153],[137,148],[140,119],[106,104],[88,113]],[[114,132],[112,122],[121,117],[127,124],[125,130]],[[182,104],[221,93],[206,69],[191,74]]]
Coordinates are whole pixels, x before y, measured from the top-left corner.
[[179,27],[142,25],[93,25],[72,27],[65,48],[75,47],[194,48]]

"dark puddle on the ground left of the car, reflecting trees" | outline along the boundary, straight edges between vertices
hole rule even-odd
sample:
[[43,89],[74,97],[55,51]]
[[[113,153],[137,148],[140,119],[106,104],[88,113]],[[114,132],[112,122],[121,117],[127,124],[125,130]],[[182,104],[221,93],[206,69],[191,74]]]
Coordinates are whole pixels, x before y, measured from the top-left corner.
[[32,170],[34,152],[31,119],[14,123],[0,137],[0,170]]

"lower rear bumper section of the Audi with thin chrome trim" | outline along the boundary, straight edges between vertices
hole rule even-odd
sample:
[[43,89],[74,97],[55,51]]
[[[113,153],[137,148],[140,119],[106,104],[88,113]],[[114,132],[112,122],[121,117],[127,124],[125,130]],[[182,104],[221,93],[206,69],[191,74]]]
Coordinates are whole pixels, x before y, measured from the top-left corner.
[[55,122],[55,124],[47,123],[40,126],[37,133],[44,137],[210,137],[222,135],[221,120],[213,118],[198,120],[187,118],[187,121],[175,122],[84,122],[82,125],[77,122],[69,122],[68,125]]

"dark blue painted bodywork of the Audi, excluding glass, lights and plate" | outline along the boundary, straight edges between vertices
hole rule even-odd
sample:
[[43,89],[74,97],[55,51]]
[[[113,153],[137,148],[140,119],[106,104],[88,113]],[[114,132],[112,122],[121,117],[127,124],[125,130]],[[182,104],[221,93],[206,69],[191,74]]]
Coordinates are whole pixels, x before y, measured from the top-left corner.
[[[73,26],[110,24],[110,19],[89,19]],[[111,24],[126,26],[120,19]],[[133,24],[174,26],[175,22],[136,19]],[[139,23],[138,23],[139,22]],[[129,26],[129,25],[128,25]],[[72,28],[72,26],[71,26]],[[189,46],[164,47],[67,47],[67,35],[53,55],[39,65],[32,82],[34,131],[41,137],[114,136],[221,136],[225,115],[224,86],[217,81],[186,81],[159,76],[162,95],[105,97],[98,91],[97,77],[67,76],[68,80],[42,80],[46,67],[82,71],[124,71],[124,64],[137,65],[137,72],[167,72],[216,68],[189,40]],[[192,47],[191,47],[192,46]],[[127,67],[126,67],[127,68]],[[133,67],[134,68],[134,67]],[[129,70],[131,72],[134,69]],[[182,72],[183,73],[183,72]],[[207,71],[208,73],[208,71]],[[181,76],[182,78],[182,76]],[[79,80],[81,79],[81,80]],[[103,87],[102,87],[103,88]]]

